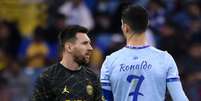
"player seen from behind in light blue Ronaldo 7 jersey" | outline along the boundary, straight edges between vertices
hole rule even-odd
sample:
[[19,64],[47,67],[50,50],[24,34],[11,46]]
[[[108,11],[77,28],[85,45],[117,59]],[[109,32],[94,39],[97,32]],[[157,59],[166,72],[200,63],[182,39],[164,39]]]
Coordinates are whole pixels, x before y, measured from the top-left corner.
[[172,56],[146,43],[148,13],[130,5],[122,13],[126,46],[107,56],[101,68],[106,101],[164,101],[166,87],[173,101],[188,101]]

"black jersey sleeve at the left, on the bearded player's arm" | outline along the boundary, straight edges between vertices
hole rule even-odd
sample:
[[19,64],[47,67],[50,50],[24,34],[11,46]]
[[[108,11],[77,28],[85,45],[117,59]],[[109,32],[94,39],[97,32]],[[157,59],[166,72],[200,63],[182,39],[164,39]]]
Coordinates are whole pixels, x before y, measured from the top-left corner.
[[37,78],[31,101],[50,101],[49,82],[46,75],[40,75]]

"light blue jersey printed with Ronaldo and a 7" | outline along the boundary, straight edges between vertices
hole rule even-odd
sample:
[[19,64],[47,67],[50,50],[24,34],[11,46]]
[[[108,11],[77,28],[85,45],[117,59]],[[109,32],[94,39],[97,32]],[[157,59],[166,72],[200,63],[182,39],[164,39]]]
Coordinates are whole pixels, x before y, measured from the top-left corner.
[[172,56],[152,46],[126,46],[107,56],[100,80],[108,101],[164,101],[167,83],[180,82]]

